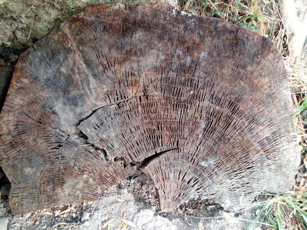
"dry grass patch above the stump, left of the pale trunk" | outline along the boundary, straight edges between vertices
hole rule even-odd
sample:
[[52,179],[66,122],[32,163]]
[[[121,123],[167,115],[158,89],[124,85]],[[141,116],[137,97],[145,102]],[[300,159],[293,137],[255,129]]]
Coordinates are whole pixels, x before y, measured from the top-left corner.
[[286,54],[286,33],[275,1],[186,0],[181,10],[195,15],[217,17],[269,37]]

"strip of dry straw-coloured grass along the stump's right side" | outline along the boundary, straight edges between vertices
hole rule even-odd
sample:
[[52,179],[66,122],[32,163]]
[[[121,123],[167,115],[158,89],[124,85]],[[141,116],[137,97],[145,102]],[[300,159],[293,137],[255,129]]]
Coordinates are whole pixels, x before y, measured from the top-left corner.
[[[286,215],[284,215],[285,217],[282,220],[283,225],[290,227],[291,229],[307,229],[307,213],[305,212],[307,209],[307,121],[305,120],[307,113],[304,115],[304,117],[302,116],[304,111],[307,111],[307,62],[301,59],[294,61],[289,57],[285,57],[284,62],[287,70],[289,86],[291,89],[295,125],[297,127],[297,133],[300,136],[299,146],[301,153],[301,166],[299,167],[297,183],[293,189],[295,195],[293,197],[296,199],[296,201],[298,201],[297,204],[300,204],[297,205],[297,207],[300,206],[300,212],[295,212],[296,209],[285,206],[283,211],[286,213]],[[293,215],[293,213],[304,213],[306,216],[299,217],[298,215]]]

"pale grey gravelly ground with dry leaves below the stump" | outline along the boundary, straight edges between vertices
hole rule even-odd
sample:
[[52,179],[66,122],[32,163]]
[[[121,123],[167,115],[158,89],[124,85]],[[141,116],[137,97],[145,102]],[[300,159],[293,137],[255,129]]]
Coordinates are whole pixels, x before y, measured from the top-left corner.
[[[67,209],[67,212],[55,215]],[[172,212],[160,212],[153,184],[145,174],[136,171],[106,190],[97,201],[44,209],[23,216],[12,215],[7,199],[2,197],[0,230],[99,230],[103,226],[103,229],[110,226],[116,230],[122,228],[122,219],[126,221],[127,230],[241,230],[247,228],[249,222],[240,219],[252,220],[257,212],[257,207],[254,207],[233,215],[224,212],[218,204],[198,197]]]

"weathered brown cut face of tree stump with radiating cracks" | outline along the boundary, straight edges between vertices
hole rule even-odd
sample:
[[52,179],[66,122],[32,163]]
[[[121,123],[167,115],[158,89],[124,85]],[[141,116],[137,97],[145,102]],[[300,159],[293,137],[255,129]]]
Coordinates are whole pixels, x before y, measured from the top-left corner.
[[0,115],[14,214],[95,200],[137,167],[161,209],[293,185],[290,90],[272,42],[168,5],[98,5],[21,55]]

